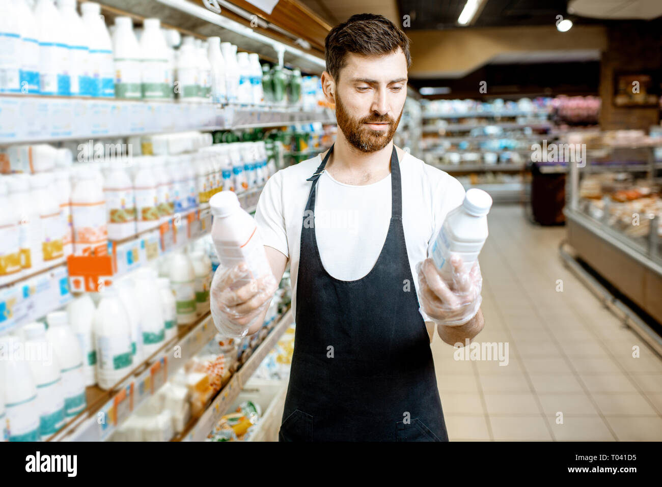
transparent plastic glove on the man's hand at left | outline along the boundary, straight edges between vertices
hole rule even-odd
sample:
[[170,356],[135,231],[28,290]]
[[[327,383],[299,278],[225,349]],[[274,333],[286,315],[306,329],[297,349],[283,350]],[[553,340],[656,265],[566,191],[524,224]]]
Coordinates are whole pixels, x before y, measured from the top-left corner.
[[245,263],[230,269],[218,267],[211,283],[211,316],[221,335],[242,338],[261,318],[278,288],[276,278],[267,273],[258,279],[250,275]]

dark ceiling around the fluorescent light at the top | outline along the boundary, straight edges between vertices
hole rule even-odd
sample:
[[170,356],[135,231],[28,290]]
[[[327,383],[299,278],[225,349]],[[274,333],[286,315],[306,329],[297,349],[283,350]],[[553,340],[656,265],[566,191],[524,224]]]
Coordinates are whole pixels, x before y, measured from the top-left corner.
[[[466,0],[397,0],[401,15],[411,16],[412,29],[457,28]],[[555,25],[563,15],[575,24],[604,23],[567,15],[567,0],[487,0],[473,26]]]

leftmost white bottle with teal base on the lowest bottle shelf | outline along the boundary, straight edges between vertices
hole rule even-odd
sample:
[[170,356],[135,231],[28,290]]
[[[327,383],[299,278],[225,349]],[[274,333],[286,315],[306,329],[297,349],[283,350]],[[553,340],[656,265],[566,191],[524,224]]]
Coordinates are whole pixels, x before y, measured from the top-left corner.
[[0,337],[6,360],[0,361],[0,400],[5,404],[9,441],[39,441],[39,403],[37,388],[28,363],[19,357],[21,343],[15,337]]

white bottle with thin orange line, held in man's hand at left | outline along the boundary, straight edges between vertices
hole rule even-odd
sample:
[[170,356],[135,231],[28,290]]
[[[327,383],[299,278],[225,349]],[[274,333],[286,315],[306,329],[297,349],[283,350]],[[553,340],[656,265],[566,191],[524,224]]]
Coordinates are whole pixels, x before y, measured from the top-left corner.
[[236,287],[271,273],[258,226],[250,214],[242,209],[236,193],[221,191],[209,202],[214,223],[211,229],[214,247],[225,269],[246,263],[248,273],[237,281]]

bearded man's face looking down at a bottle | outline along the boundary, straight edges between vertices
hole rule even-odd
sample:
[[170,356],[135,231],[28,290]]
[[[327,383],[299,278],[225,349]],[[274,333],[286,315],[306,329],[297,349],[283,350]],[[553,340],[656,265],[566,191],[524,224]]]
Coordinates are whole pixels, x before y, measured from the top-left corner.
[[348,53],[335,81],[336,119],[361,152],[383,149],[398,128],[406,99],[407,63],[402,50],[382,56]]

